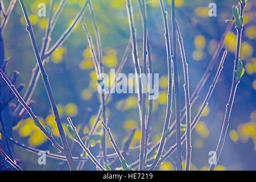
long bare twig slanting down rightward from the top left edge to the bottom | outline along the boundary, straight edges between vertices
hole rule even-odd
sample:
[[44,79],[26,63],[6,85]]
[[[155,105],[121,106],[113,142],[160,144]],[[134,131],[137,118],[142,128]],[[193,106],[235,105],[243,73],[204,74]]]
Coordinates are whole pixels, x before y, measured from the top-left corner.
[[34,52],[36,55],[36,59],[38,60],[38,65],[40,68],[40,72],[42,73],[44,85],[46,86],[49,101],[51,102],[52,110],[55,115],[55,121],[56,121],[58,130],[59,130],[59,133],[60,133],[61,142],[63,143],[63,153],[67,157],[68,164],[69,164],[69,167],[71,168],[71,170],[75,170],[75,166],[74,166],[73,160],[72,160],[72,154],[71,154],[71,151],[69,150],[67,138],[65,136],[63,126],[61,124],[59,111],[57,110],[56,102],[55,102],[55,99],[52,94],[52,89],[51,89],[51,86],[49,85],[48,75],[46,74],[46,71],[44,70],[42,59],[41,59],[41,56],[39,55],[38,47],[36,45],[36,40],[35,40],[35,36],[34,36],[34,31],[31,26],[31,23],[30,23],[30,19],[28,17],[27,10],[26,10],[26,7],[24,6],[23,0],[19,0],[19,2],[20,2],[20,5],[22,6],[23,14],[26,18],[27,31],[30,34],[32,46],[33,46],[33,49],[34,49]]

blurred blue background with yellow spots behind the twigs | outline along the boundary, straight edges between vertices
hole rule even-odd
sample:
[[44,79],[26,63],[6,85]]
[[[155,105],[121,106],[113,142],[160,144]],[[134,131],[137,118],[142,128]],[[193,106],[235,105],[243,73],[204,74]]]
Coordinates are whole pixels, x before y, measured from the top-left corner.
[[[10,1],[3,1],[6,6]],[[55,1],[54,10],[60,1]],[[168,20],[171,30],[171,1],[164,1],[168,11]],[[34,28],[36,41],[39,47],[42,44],[44,31],[47,27],[49,16],[49,0],[26,0],[28,14]],[[38,16],[38,4],[46,3],[47,16]],[[67,6],[61,13],[56,28],[52,34],[51,46],[59,39],[60,35],[66,30],[76,14],[80,10],[84,0],[68,0]],[[109,73],[110,68],[117,68],[126,45],[129,41],[130,30],[126,11],[125,0],[92,0],[98,28],[101,34],[102,47],[104,51],[104,71]],[[139,6],[137,1],[132,1],[134,10],[135,25],[137,27],[137,38],[139,46],[139,57],[142,59],[143,27]],[[164,26],[162,13],[158,0],[147,0],[147,19],[148,34],[150,36],[150,48],[152,56],[152,70],[159,73],[159,98],[154,101],[152,113],[150,142],[157,142],[160,139],[167,103],[167,61],[166,47],[164,39]],[[216,3],[217,16],[208,15],[209,3]],[[189,81],[191,93],[197,82],[199,82],[212,55],[217,48],[217,43],[224,34],[227,23],[225,20],[232,15],[232,6],[237,5],[237,0],[214,1],[214,0],[179,0],[176,1],[176,18],[180,24],[181,34],[183,35],[185,52],[189,64]],[[237,89],[237,96],[234,101],[233,111],[230,120],[228,135],[222,150],[221,158],[218,162],[218,170],[255,170],[256,169],[256,1],[247,1],[245,9],[245,31],[242,35],[241,59],[245,66],[240,85]],[[84,15],[93,41],[96,43],[93,22],[89,9]],[[36,65],[36,58],[31,46],[30,37],[26,31],[26,21],[23,18],[19,3],[16,4],[13,14],[10,17],[3,40],[6,49],[9,65],[7,74],[16,70],[20,72],[18,83],[26,86],[30,81],[32,69]],[[51,47],[50,46],[50,47]],[[234,52],[236,51],[236,30],[233,27],[225,38],[225,46],[228,49],[228,56],[224,64],[224,69],[217,82],[216,89],[210,98],[207,109],[204,110],[203,117],[192,132],[192,169],[208,169],[209,151],[216,149],[218,137],[220,136],[222,121],[225,112],[225,105],[228,102],[229,91],[232,82]],[[180,59],[180,57],[179,57]],[[218,61],[220,58],[218,59]],[[192,119],[200,109],[201,102],[207,94],[213,75],[210,76],[204,89],[201,91],[199,99],[192,107]],[[52,86],[57,106],[63,121],[64,129],[67,131],[67,117],[72,117],[73,122],[79,128],[84,118],[85,112],[90,107],[92,117],[84,133],[88,133],[100,107],[100,97],[97,92],[97,77],[94,71],[93,61],[90,56],[86,34],[81,24],[75,28],[73,34],[69,36],[67,42],[57,49],[45,64],[46,72]],[[181,71],[181,67],[180,67]],[[134,73],[133,60],[129,54],[127,63],[122,73]],[[181,86],[183,77],[180,77]],[[26,87],[25,89],[26,90]],[[24,90],[22,95],[24,94]],[[184,98],[183,89],[181,98]],[[51,127],[55,137],[60,140],[57,126],[48,101],[46,89],[40,77],[32,100],[36,103],[32,106],[35,114],[40,117],[42,123]],[[18,104],[16,99],[13,100]],[[181,100],[184,105],[184,100]],[[175,108],[173,108],[174,110]],[[139,124],[139,113],[137,107],[136,94],[112,94],[106,112],[109,118],[109,127],[112,130],[118,146],[121,148],[131,129]],[[175,114],[172,115],[171,122],[174,122]],[[184,122],[184,121],[183,121]],[[101,130],[98,130],[101,133]],[[68,134],[68,133],[67,133]],[[69,135],[69,134],[68,134]],[[137,146],[140,141],[140,131],[137,130],[131,143],[131,147]],[[32,122],[31,118],[25,118],[14,128],[13,137],[20,143],[56,152],[51,143],[44,137]],[[71,138],[68,139],[72,143]],[[98,155],[100,141],[92,142],[92,152]],[[175,143],[172,137],[165,148],[171,147]],[[79,156],[81,148],[76,146],[75,155]],[[38,164],[38,155],[14,146],[15,156],[21,160],[24,169],[30,170],[55,170],[59,160],[47,158],[46,165]],[[78,151],[78,152],[77,152]],[[108,152],[114,150],[108,142]],[[138,150],[130,152],[127,162],[131,163],[138,159]],[[183,146],[183,156],[185,148]],[[172,156],[175,160],[175,155]],[[67,165],[63,169],[68,169]],[[92,163],[85,164],[84,169],[94,170]],[[174,170],[175,164],[172,160],[167,160],[159,170]]]

